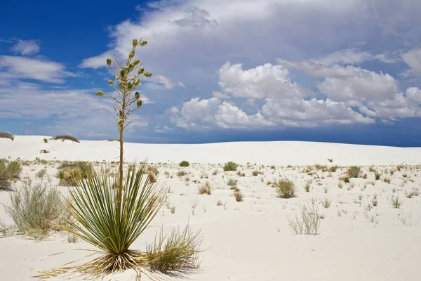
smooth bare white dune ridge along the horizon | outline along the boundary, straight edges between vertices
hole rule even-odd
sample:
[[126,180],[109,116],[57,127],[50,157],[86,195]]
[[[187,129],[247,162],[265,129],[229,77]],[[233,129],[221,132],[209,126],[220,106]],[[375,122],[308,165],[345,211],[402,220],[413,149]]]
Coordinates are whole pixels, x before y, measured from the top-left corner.
[[[118,161],[119,143],[109,141],[49,141],[46,136],[16,136],[15,141],[0,138],[0,158],[33,160]],[[301,141],[237,142],[208,144],[143,144],[125,143],[125,161],[180,162],[188,159],[196,163],[276,165],[325,164],[333,159],[339,165],[421,164],[421,148],[393,148],[374,145],[341,143],[313,143]],[[40,155],[40,150],[48,150]]]

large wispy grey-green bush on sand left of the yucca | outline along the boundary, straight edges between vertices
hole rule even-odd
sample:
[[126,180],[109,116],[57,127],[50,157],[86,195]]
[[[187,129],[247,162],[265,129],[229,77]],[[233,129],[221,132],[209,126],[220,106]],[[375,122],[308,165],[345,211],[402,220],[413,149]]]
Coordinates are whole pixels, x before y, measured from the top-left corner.
[[22,181],[22,188],[11,194],[11,204],[5,206],[15,228],[22,235],[41,239],[61,223],[66,208],[60,192],[41,181]]

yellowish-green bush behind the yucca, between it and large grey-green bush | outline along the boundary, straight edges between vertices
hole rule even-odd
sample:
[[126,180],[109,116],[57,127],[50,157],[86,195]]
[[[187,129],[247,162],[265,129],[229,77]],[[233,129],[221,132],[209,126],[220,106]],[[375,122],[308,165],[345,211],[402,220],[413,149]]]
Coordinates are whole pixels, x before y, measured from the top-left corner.
[[59,185],[76,186],[81,178],[88,178],[93,173],[93,166],[89,162],[62,162],[55,176]]

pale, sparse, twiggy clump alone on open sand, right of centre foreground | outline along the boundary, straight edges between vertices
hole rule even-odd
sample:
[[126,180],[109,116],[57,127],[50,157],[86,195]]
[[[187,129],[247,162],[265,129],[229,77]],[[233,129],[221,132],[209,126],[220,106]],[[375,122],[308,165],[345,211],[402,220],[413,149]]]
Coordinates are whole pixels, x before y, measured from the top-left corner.
[[315,200],[300,206],[300,213],[288,217],[288,225],[293,235],[317,235],[321,224],[321,214]]

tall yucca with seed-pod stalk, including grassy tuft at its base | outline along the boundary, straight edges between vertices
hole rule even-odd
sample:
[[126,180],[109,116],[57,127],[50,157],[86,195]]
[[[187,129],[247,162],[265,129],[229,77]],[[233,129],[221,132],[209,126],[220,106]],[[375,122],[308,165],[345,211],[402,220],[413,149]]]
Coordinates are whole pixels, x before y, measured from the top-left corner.
[[[96,92],[97,96],[108,96],[114,102],[120,136],[119,173],[115,177],[109,176],[109,168],[103,167],[86,178],[79,177],[80,186],[69,189],[71,219],[67,220],[67,225],[60,226],[98,247],[99,250],[94,253],[100,256],[81,266],[41,272],[38,277],[63,273],[101,276],[132,269],[138,273],[140,280],[141,273],[148,271],[162,268],[164,273],[182,273],[196,268],[198,264],[196,254],[200,251],[202,238],[200,233],[192,235],[188,228],[182,233],[172,233],[167,241],[161,236],[161,240],[147,251],[130,249],[131,244],[152,222],[169,194],[167,188],[158,186],[152,179],[152,170],[146,162],[134,164],[126,176],[123,174],[123,131],[130,124],[128,117],[142,105],[140,93],[133,94],[133,91],[140,85],[140,76],[152,76],[141,67],[140,60],[133,60],[135,49],[146,44],[147,41],[133,39],[133,48],[126,65],[107,58],[109,70],[115,74],[114,81],[109,80],[108,84],[114,87],[115,93]],[[132,72],[134,76],[129,77]],[[132,108],[133,104],[135,108]]]

